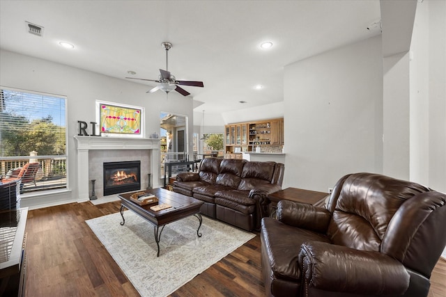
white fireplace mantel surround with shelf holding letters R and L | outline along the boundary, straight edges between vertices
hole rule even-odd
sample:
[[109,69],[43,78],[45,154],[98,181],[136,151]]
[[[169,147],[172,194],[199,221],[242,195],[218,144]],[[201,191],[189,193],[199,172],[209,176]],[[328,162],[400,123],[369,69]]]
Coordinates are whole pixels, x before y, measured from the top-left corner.
[[77,189],[79,202],[90,199],[89,150],[150,150],[153,187],[159,186],[160,139],[75,136],[77,146]]

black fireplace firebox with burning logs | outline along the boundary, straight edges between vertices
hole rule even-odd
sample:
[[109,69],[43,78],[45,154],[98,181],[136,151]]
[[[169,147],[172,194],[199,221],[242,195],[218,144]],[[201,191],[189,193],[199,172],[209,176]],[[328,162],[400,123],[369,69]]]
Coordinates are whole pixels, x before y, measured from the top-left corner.
[[104,196],[139,191],[141,161],[104,162]]

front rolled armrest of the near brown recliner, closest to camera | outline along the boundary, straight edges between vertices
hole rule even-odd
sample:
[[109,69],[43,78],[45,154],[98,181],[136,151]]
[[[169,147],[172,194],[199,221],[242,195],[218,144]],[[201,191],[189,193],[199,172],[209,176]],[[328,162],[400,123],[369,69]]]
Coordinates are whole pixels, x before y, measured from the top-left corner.
[[298,261],[305,291],[395,296],[409,286],[403,264],[380,252],[312,241],[302,244]]

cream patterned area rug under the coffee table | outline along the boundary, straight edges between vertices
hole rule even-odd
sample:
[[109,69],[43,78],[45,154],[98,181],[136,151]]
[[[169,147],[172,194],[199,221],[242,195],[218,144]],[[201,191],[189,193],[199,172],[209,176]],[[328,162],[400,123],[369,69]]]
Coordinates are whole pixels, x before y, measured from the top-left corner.
[[255,234],[203,216],[177,220],[164,227],[156,257],[153,225],[132,211],[86,220],[141,296],[167,296],[236,250]]

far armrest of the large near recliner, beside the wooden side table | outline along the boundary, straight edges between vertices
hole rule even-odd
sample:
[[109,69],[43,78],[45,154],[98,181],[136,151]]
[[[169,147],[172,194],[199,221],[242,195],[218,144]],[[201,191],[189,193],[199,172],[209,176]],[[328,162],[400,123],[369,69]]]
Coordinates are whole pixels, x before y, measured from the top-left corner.
[[277,220],[286,225],[325,233],[332,214],[323,207],[312,204],[280,200],[277,203]]

